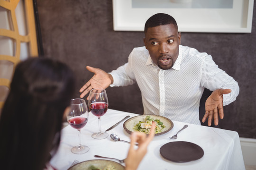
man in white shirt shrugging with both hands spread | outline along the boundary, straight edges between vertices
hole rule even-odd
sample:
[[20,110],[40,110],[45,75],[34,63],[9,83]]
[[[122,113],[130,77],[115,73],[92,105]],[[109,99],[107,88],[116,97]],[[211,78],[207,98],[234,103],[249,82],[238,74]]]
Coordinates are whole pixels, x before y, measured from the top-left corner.
[[94,76],[80,89],[84,97],[92,88],[126,86],[137,82],[144,114],[200,125],[199,103],[204,88],[213,91],[205,102],[204,122],[223,119],[223,106],[236,100],[238,83],[218,68],[207,53],[181,45],[175,19],[159,13],[145,24],[145,47],[134,48],[128,63],[110,74],[88,67]]

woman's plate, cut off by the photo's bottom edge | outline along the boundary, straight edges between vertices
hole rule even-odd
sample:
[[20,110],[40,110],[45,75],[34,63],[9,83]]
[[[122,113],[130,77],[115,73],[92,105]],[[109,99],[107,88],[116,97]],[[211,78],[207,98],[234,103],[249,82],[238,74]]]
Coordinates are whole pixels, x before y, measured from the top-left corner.
[[125,170],[125,167],[115,161],[109,161],[109,160],[89,160],[89,161],[82,161],[72,167],[70,167],[68,170],[91,170],[89,169],[91,166],[94,166],[95,168],[100,168],[101,170],[104,170],[107,166],[113,166],[115,170]]

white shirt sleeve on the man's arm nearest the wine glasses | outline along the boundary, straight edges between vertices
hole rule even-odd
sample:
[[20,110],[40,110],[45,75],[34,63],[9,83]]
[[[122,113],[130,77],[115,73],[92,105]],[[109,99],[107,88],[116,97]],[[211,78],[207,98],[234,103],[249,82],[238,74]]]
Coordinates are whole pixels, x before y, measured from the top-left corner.
[[134,73],[132,71],[132,55],[133,51],[129,55],[128,63],[109,73],[113,77],[113,84],[111,84],[110,87],[127,86],[136,82]]

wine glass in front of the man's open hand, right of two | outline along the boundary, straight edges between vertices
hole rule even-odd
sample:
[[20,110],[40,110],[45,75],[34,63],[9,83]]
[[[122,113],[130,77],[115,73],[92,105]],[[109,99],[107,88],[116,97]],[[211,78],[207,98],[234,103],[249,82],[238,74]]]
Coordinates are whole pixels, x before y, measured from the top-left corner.
[[104,139],[109,136],[106,132],[101,132],[101,116],[103,116],[109,106],[108,96],[106,90],[103,88],[91,89],[89,94],[89,110],[94,116],[98,117],[99,132],[91,135],[94,139]]

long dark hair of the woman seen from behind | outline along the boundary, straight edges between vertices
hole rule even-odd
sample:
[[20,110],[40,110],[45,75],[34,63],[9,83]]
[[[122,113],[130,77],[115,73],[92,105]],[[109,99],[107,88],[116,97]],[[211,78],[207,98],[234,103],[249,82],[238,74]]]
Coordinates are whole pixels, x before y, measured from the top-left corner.
[[5,169],[44,169],[59,146],[74,82],[72,71],[59,61],[30,58],[17,65],[0,115],[0,162]]

